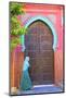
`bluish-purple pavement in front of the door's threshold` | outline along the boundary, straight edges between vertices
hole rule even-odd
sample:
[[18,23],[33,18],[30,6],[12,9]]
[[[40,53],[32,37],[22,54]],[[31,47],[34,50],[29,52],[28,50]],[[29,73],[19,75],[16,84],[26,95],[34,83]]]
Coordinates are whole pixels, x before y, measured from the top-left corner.
[[62,93],[63,89],[61,87],[54,86],[54,85],[44,85],[42,87],[34,87],[31,90],[22,90],[18,91],[17,95],[24,95],[24,94],[39,94],[39,93]]

